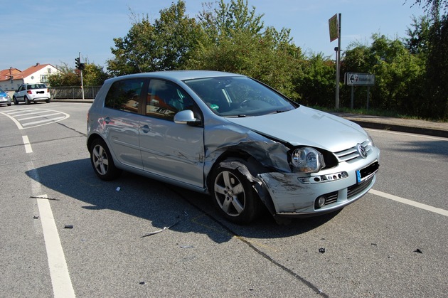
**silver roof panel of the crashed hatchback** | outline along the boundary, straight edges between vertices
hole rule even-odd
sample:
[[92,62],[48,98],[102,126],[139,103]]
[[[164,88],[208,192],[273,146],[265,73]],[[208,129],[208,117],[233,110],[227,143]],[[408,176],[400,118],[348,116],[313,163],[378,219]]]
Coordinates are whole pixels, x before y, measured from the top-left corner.
[[223,71],[215,70],[166,70],[166,71],[156,71],[152,73],[135,73],[132,75],[122,75],[119,77],[111,78],[109,80],[122,80],[124,78],[161,78],[169,80],[191,80],[198,78],[214,78],[214,77],[234,77],[234,76],[244,76],[238,75],[236,73],[225,73]]

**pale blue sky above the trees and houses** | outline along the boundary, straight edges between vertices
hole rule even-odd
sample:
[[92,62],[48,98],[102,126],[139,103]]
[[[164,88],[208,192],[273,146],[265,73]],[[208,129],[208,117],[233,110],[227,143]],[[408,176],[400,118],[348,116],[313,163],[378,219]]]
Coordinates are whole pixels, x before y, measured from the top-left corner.
[[[176,1],[177,0],[173,0]],[[36,63],[75,67],[75,58],[104,66],[113,58],[114,38],[132,26],[132,14],[159,18],[173,1],[41,0],[2,1],[0,70],[25,70]],[[208,0],[210,1],[210,0]],[[225,0],[228,2],[230,0]],[[186,14],[196,17],[204,0],[185,0]],[[265,26],[291,30],[304,53],[335,57],[329,18],[341,14],[341,50],[351,43],[370,45],[373,33],[405,38],[412,16],[422,16],[414,0],[249,0]]]

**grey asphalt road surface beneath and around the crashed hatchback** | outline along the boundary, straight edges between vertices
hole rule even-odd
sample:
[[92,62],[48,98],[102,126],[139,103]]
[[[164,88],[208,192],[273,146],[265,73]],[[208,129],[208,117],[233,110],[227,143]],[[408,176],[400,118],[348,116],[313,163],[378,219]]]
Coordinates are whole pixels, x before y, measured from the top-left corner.
[[448,139],[369,129],[373,191],[240,226],[199,193],[97,179],[88,107],[0,107],[0,297],[448,297]]

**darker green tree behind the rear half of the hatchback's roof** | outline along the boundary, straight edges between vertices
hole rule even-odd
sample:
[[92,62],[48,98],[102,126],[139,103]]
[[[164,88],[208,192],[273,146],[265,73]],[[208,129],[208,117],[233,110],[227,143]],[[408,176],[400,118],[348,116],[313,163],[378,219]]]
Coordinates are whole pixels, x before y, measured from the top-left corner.
[[137,20],[124,38],[114,38],[114,58],[107,61],[112,75],[185,68],[200,34],[194,18],[185,15],[185,2],[160,11],[151,24],[149,17]]

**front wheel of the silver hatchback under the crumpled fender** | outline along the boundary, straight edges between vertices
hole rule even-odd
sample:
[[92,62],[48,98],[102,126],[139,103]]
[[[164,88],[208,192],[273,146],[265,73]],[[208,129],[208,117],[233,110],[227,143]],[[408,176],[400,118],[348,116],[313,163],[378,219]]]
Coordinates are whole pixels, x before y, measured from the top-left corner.
[[223,162],[213,171],[210,192],[224,218],[238,224],[250,223],[260,213],[260,199],[250,181],[238,170],[244,164],[238,161],[232,164],[235,162],[239,164],[237,167]]

